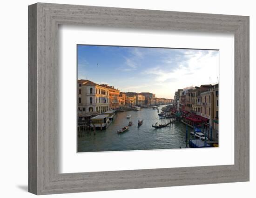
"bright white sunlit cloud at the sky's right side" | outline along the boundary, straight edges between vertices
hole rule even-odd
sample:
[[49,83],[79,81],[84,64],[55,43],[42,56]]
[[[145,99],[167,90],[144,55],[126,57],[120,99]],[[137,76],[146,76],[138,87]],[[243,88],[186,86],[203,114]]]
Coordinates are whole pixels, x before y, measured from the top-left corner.
[[217,82],[218,55],[218,51],[183,50],[168,57],[172,62],[166,58],[167,61],[162,61],[161,65],[142,73],[152,78],[152,87],[158,84],[157,95],[164,95],[168,91],[173,96],[176,89]]

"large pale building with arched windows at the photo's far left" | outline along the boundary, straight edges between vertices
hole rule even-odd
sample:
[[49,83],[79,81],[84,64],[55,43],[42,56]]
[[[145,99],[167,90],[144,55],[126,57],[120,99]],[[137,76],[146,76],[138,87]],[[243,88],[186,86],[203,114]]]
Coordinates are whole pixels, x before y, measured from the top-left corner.
[[106,112],[109,110],[109,90],[89,80],[77,81],[78,112]]

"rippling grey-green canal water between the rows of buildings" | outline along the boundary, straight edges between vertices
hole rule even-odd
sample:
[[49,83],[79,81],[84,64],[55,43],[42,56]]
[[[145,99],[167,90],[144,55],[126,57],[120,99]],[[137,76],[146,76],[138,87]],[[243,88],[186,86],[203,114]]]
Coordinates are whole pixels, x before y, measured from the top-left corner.
[[[162,105],[159,110],[166,105]],[[127,115],[131,115],[127,119]],[[138,119],[143,124],[138,127]],[[123,134],[116,132],[125,126],[129,121],[133,125]],[[170,149],[186,147],[186,126],[176,122],[164,128],[153,128],[156,122],[164,124],[166,119],[159,119],[156,109],[143,108],[140,111],[118,112],[115,121],[106,130],[97,130],[91,134],[78,138],[78,152],[96,151],[130,151],[130,150],[151,150]]]

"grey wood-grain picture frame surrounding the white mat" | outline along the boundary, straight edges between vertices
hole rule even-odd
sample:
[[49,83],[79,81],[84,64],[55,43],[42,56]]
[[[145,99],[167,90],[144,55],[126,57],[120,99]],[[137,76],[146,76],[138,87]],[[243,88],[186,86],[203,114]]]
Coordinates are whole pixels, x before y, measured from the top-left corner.
[[[59,173],[59,25],[234,33],[234,165]],[[40,195],[249,181],[248,16],[36,3],[28,6],[28,77],[29,192]]]

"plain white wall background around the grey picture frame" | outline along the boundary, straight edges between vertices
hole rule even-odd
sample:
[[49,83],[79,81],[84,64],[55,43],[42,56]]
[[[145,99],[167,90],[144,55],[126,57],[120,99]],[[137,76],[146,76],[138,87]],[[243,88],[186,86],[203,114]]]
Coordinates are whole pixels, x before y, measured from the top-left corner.
[[[27,6],[35,0],[2,1],[0,25],[0,197],[29,198],[27,192]],[[234,14],[250,16],[250,182],[51,195],[56,198],[256,197],[255,65],[256,12],[252,0],[45,0],[49,3]]]

